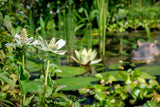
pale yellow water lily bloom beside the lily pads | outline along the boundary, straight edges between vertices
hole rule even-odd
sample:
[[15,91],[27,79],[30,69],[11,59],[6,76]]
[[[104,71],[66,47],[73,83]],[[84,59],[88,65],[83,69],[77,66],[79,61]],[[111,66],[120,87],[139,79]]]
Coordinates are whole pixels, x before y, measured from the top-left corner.
[[71,56],[71,58],[81,65],[96,64],[101,61],[101,59],[95,60],[97,52],[95,50],[92,51],[92,49],[88,51],[86,48],[81,51],[75,50],[75,56],[76,57]]

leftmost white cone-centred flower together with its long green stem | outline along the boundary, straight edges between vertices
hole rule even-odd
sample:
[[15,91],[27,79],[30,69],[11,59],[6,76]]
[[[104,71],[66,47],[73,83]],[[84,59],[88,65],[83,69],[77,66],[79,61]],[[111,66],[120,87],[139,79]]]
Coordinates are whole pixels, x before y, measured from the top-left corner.
[[21,105],[24,105],[25,101],[26,101],[26,98],[25,98],[26,93],[24,92],[24,87],[25,87],[24,81],[28,79],[26,76],[27,72],[25,70],[25,58],[24,58],[25,46],[36,45],[36,44],[38,44],[38,41],[35,40],[34,42],[32,42],[33,37],[28,38],[28,34],[27,34],[27,31],[25,28],[22,29],[21,35],[16,34],[14,39],[15,39],[16,43],[7,43],[6,46],[7,47],[19,46],[22,49],[22,60],[21,60],[22,61],[22,66],[21,66],[22,70],[19,71],[19,83],[20,83],[19,86],[20,86],[20,90],[21,90],[21,96],[23,97],[20,102],[21,102]]

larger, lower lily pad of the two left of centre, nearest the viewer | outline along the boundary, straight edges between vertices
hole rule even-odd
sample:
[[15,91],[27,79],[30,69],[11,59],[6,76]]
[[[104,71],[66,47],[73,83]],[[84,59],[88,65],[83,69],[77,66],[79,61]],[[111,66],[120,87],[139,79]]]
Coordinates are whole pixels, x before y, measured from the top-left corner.
[[98,78],[95,77],[66,77],[56,80],[57,85],[66,85],[62,90],[77,90],[97,82]]

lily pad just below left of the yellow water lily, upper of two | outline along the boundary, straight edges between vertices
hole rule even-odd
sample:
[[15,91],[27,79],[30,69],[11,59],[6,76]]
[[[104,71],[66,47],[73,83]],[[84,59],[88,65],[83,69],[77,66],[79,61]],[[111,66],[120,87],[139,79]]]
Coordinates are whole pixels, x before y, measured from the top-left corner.
[[86,72],[86,69],[82,67],[61,66],[60,69],[62,70],[62,73],[57,73],[58,77],[73,77]]

